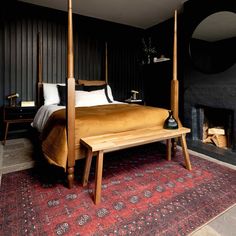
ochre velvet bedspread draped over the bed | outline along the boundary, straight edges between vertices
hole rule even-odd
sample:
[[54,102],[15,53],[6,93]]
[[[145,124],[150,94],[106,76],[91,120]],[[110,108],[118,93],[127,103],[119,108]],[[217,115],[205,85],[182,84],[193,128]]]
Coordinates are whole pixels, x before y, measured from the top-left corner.
[[[112,104],[77,107],[75,114],[76,157],[85,157],[80,138],[115,133],[145,127],[163,127],[168,110],[136,104]],[[54,112],[42,133],[42,150],[49,163],[67,165],[67,136],[65,109]]]

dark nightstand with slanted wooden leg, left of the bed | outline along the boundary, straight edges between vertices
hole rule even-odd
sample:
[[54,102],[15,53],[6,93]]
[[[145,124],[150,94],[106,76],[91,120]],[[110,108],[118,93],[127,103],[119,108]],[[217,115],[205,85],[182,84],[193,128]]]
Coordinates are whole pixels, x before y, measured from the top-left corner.
[[30,123],[36,114],[36,107],[3,107],[3,122],[5,125],[3,145],[6,143],[8,128],[10,124]]

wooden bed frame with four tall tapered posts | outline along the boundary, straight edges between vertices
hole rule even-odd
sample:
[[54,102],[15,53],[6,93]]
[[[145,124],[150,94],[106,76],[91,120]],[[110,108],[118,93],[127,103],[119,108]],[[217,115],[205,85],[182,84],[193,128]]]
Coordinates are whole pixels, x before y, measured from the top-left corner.
[[[75,98],[72,96],[75,93],[75,79],[74,79],[74,54],[73,54],[73,22],[72,22],[72,0],[68,0],[68,35],[67,35],[67,105],[66,105],[66,125],[67,125],[67,144],[68,144],[68,158],[67,158],[67,181],[68,187],[73,187],[74,181],[74,166],[75,166]],[[107,43],[105,45],[105,80],[108,81],[108,61],[107,61]],[[42,101],[42,39],[38,35],[38,88],[37,88],[37,103]],[[174,44],[173,44],[173,78],[171,81],[171,110],[177,120],[179,127],[182,124],[179,120],[179,82],[177,80],[177,11],[174,15]],[[181,136],[182,137],[182,136]],[[164,139],[164,138],[163,138]],[[176,139],[172,139],[172,149],[176,148]],[[185,135],[181,142],[186,144]],[[187,150],[187,147],[186,147]],[[187,169],[191,169],[189,166]]]

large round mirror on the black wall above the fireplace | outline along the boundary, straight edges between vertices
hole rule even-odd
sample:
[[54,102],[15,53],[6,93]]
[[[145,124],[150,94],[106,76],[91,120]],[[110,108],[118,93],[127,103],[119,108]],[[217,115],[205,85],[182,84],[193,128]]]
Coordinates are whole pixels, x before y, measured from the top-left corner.
[[229,11],[205,18],[193,32],[189,45],[193,65],[204,73],[218,73],[236,62],[236,14]]

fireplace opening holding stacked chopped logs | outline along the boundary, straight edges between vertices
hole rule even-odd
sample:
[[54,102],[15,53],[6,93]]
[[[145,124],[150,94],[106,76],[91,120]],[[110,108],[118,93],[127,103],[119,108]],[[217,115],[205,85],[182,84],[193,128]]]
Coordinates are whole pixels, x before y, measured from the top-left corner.
[[233,111],[223,108],[199,106],[196,135],[205,144],[230,149],[233,144]]

